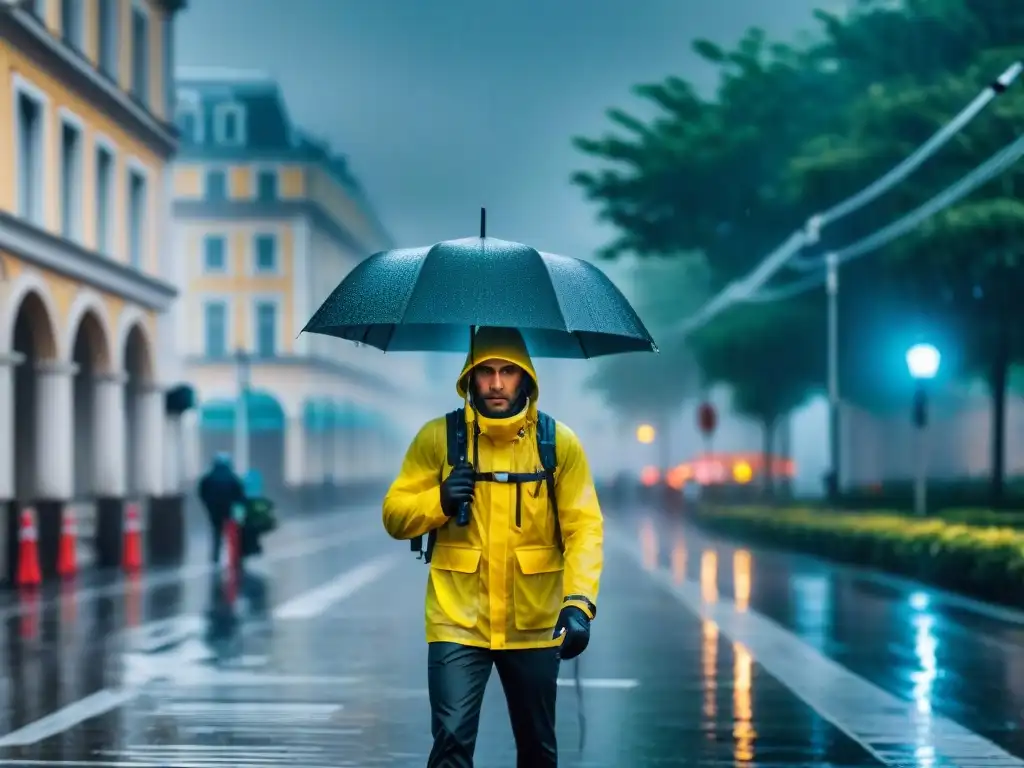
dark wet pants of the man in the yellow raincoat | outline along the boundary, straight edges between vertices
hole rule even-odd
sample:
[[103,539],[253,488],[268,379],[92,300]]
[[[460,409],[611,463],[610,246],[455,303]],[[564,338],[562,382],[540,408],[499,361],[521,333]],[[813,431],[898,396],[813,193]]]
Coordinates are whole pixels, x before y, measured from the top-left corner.
[[490,667],[508,701],[517,768],[556,768],[557,648],[488,650],[430,643],[427,686],[434,746],[427,768],[472,768],[483,690]]

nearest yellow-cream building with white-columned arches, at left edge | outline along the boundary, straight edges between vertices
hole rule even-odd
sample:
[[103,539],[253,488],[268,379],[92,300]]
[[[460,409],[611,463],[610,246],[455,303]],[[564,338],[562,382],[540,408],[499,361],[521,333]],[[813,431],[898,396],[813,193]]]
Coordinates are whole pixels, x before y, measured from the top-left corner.
[[0,503],[7,536],[35,509],[44,571],[66,512],[117,549],[126,499],[179,492],[163,449],[180,371],[163,350],[182,7],[0,4]]

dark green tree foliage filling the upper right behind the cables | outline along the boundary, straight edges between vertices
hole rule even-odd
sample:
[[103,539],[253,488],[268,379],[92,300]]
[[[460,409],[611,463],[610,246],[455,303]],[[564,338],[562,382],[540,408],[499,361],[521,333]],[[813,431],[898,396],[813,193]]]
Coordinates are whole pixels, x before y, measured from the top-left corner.
[[[799,45],[756,29],[731,49],[695,41],[720,74],[712,96],[678,77],[641,85],[635,94],[655,117],[612,110],[614,132],[575,139],[598,167],[573,181],[618,230],[603,256],[699,256],[709,288],[721,289],[810,215],[913,153],[1024,57],[1019,0],[859,0],[814,18],[817,34]],[[1015,139],[1024,120],[1015,88],[904,182],[828,226],[821,251],[904,215]],[[879,374],[876,350],[908,328],[955,340],[959,354],[947,360],[987,375],[993,392],[1005,388],[1009,365],[1024,360],[1024,335],[1008,331],[1024,323],[1024,302],[1015,300],[1024,288],[1022,173],[1005,173],[844,265],[847,395],[883,399],[883,379],[893,377]],[[709,379],[733,387],[738,410],[768,420],[823,383],[823,325],[821,294],[812,292],[784,305],[735,307],[690,347]]]

